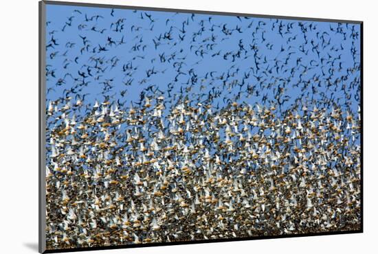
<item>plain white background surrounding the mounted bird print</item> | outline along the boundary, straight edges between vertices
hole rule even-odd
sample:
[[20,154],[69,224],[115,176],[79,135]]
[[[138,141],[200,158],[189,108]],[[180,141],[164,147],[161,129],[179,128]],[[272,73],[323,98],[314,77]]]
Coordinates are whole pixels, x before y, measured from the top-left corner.
[[[377,253],[378,168],[375,168],[375,162],[378,153],[378,15],[375,1],[87,1],[364,21],[364,233],[120,249],[98,253]],[[0,29],[0,253],[36,253],[38,1],[1,1]]]

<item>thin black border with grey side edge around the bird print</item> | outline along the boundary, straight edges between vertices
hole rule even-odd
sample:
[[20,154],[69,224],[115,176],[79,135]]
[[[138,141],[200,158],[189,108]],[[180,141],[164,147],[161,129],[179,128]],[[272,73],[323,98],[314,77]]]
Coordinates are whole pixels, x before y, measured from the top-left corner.
[[[194,241],[181,241],[181,242],[156,242],[144,244],[124,244],[115,246],[93,246],[93,247],[80,247],[71,249],[54,249],[47,250],[45,244],[45,5],[74,5],[80,7],[94,7],[94,8],[114,8],[126,10],[149,10],[157,12],[181,12],[181,13],[194,13],[194,14],[212,14],[222,16],[248,16],[262,19],[287,19],[296,21],[315,21],[315,22],[331,22],[331,23],[351,23],[360,25],[360,140],[361,140],[361,154],[360,154],[360,202],[361,202],[361,228],[353,231],[329,231],[320,233],[297,233],[297,234],[283,234],[283,235],[264,235],[252,236],[247,238],[221,238],[212,240],[194,240]],[[263,239],[280,239],[280,238],[299,238],[307,236],[320,236],[320,235],[343,235],[351,233],[364,232],[364,36],[363,36],[363,21],[341,20],[341,19],[319,19],[299,16],[276,16],[265,14],[247,14],[239,12],[218,12],[218,11],[205,11],[205,10],[188,10],[188,9],[174,9],[174,8],[155,8],[144,6],[131,6],[131,5],[111,5],[100,3],[77,3],[69,1],[39,1],[38,2],[38,252],[39,253],[65,253],[76,251],[98,251],[110,249],[131,249],[143,248],[151,246],[172,246],[184,244],[203,244],[214,242],[236,242],[247,240],[263,240]]]

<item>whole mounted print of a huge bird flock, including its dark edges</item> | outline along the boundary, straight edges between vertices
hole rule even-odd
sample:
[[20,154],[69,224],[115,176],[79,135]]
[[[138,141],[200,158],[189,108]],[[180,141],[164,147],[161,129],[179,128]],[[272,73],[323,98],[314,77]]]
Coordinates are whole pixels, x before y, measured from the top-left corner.
[[359,21],[42,1],[40,251],[362,232],[361,107]]

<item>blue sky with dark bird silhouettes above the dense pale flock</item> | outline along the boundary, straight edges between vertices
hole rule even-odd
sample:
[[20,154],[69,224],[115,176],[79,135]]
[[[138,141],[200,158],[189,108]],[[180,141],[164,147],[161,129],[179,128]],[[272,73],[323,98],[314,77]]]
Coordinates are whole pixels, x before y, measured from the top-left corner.
[[[357,112],[359,25],[67,5],[46,10],[47,100],[87,94],[85,104],[93,105],[108,95],[129,106],[153,86],[166,97],[172,89],[167,103],[190,89],[197,101],[218,94],[213,106],[277,104],[281,89],[284,110],[324,97]],[[93,59],[103,72],[96,73]]]

